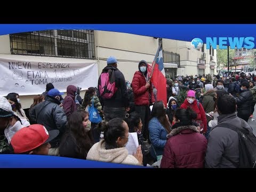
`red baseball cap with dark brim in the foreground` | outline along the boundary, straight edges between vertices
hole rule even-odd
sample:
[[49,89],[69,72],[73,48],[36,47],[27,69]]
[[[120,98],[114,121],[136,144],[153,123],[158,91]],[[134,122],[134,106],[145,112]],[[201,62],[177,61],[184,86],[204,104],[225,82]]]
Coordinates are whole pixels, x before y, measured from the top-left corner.
[[43,125],[34,124],[17,131],[11,140],[14,153],[25,153],[57,137],[59,130],[47,131]]

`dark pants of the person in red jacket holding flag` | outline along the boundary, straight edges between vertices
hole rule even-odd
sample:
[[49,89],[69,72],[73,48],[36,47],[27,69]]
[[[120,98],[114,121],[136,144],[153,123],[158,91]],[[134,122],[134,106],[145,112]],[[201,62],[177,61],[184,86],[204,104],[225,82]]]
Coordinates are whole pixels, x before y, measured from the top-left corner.
[[142,131],[144,139],[149,140],[149,132],[148,132],[148,122],[150,116],[150,108],[149,106],[135,106],[135,111],[140,115],[141,123],[142,123]]

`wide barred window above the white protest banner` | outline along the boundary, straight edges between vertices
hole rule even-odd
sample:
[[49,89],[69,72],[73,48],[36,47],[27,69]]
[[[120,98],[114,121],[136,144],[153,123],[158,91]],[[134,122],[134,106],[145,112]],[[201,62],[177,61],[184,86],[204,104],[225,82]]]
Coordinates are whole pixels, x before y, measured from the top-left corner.
[[95,59],[93,30],[43,30],[10,34],[11,53]]

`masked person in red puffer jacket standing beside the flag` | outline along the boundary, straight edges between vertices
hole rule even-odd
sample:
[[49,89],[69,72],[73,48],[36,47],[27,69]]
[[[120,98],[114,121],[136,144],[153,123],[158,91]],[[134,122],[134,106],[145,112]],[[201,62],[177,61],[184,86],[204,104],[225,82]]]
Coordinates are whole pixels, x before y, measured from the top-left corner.
[[132,90],[134,94],[135,111],[140,114],[142,123],[142,134],[145,140],[149,138],[148,122],[150,109],[149,105],[155,102],[152,85],[147,75],[148,64],[145,60],[139,62],[139,71],[134,73],[132,79]]

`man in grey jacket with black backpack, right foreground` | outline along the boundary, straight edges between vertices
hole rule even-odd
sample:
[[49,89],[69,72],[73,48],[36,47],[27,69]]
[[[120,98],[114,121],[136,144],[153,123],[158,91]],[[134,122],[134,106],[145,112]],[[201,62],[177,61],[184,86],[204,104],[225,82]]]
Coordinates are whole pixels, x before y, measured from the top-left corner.
[[[231,95],[225,94],[218,98],[217,110],[220,116],[218,117],[218,125],[213,127],[209,134],[205,167],[237,168],[239,167],[239,152],[242,151],[239,151],[237,132],[229,127],[237,125],[244,127],[249,132],[252,132],[252,128],[243,119],[237,117],[236,100]],[[225,126],[221,126],[221,124]]]

